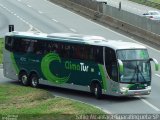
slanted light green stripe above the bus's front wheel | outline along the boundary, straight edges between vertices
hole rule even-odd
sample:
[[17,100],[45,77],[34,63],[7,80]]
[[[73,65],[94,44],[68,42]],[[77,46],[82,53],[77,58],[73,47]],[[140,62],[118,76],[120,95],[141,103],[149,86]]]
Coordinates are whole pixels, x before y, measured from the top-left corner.
[[105,76],[105,72],[103,69],[103,65],[98,64],[98,66],[99,66],[100,74],[101,74],[102,81],[103,81],[103,89],[107,90],[107,81],[106,81],[106,76]]

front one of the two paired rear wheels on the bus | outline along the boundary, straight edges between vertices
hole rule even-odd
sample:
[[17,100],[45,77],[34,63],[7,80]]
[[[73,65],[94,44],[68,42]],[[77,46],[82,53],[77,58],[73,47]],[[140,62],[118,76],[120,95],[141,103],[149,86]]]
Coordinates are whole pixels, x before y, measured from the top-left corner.
[[39,77],[37,74],[32,74],[30,77],[30,82],[32,87],[38,87],[39,85]]

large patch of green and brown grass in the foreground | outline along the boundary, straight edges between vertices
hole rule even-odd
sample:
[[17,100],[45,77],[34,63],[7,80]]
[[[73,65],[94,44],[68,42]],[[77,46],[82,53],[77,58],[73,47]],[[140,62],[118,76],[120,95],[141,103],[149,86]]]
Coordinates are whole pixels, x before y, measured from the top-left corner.
[[[76,115],[104,114],[88,104],[55,97],[50,92],[14,84],[0,84],[0,115],[20,120],[74,120]],[[1,118],[0,118],[1,119]]]

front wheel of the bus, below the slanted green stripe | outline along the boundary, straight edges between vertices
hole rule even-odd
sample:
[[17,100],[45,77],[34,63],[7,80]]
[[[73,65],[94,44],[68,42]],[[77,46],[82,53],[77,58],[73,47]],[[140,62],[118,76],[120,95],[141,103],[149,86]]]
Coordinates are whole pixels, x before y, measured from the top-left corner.
[[94,95],[97,99],[100,99],[102,97],[102,88],[98,83],[94,85]]

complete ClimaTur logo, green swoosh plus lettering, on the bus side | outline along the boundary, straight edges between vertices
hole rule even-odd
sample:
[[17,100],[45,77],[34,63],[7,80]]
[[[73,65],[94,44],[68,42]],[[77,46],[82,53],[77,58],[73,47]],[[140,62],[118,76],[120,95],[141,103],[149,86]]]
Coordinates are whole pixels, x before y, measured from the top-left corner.
[[[61,78],[54,75],[54,73],[52,73],[50,70],[50,63],[53,61],[58,61],[59,63],[61,63],[61,59],[58,54],[49,53],[42,58],[41,70],[42,70],[43,75],[49,81],[52,81],[56,84],[66,83],[70,79],[70,74],[66,77],[61,77]],[[82,71],[82,72],[89,71],[89,66],[85,65],[85,63],[75,64],[75,63],[72,63],[71,61],[65,61],[64,68],[70,71]]]

